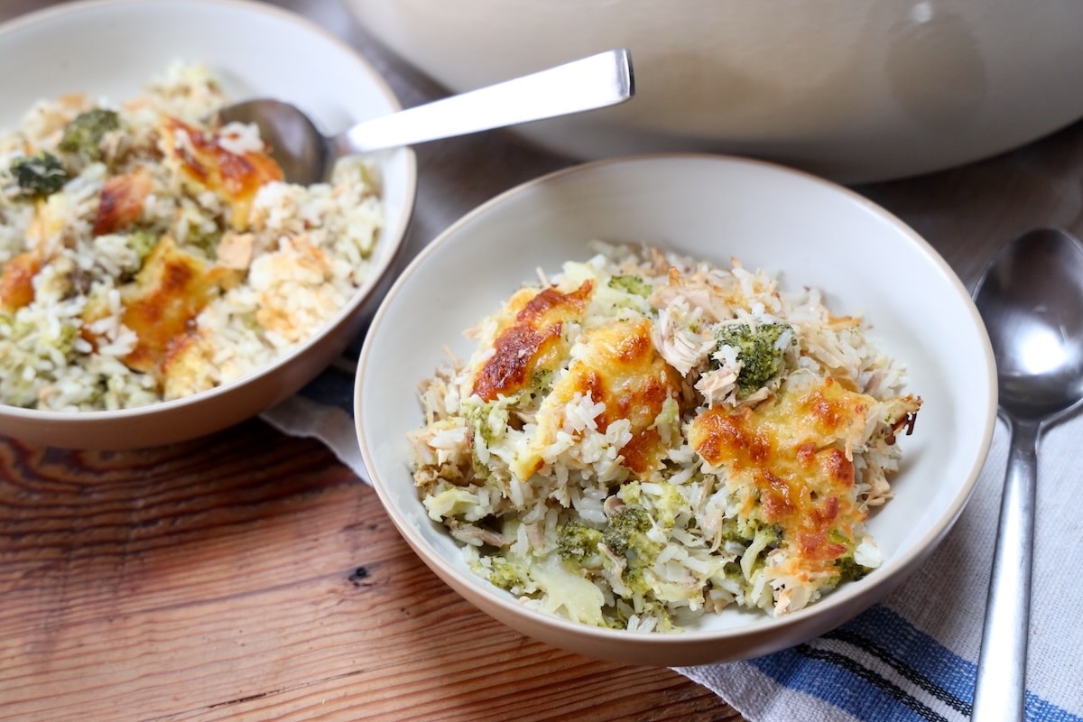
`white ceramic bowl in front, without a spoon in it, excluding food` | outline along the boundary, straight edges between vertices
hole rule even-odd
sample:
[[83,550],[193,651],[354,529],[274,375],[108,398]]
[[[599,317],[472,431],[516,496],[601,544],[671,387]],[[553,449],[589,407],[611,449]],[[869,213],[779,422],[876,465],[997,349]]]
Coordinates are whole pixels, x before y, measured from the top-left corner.
[[[870,531],[884,565],[782,618],[727,609],[677,634],[636,634],[527,609],[469,572],[429,521],[407,468],[406,433],[422,424],[417,383],[466,357],[462,330],[494,312],[540,267],[586,259],[585,241],[647,241],[728,265],[779,271],[812,285],[837,312],[862,313],[876,341],[909,368],[924,398],[904,437],[896,498]],[[919,289],[919,291],[917,290]],[[995,423],[989,339],[957,277],[913,231],[838,186],[777,166],[719,156],[598,161],[526,183],[459,220],[426,248],[377,311],[363,346],[355,411],[373,484],[394,524],[444,581],[525,634],[586,655],[694,665],[777,651],[841,623],[914,570],[954,523]],[[945,570],[945,579],[950,570]],[[434,641],[439,644],[439,640]]]

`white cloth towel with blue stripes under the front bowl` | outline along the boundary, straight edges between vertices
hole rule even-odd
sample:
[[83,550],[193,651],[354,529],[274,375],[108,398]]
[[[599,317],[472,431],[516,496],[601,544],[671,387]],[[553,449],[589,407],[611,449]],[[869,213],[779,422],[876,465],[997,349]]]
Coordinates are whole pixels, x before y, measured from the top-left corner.
[[[345,357],[356,358],[356,351]],[[323,439],[367,482],[352,403],[353,369],[343,362],[263,418],[285,433]],[[1054,426],[1042,441],[1028,660],[1032,722],[1083,722],[1080,438],[1083,417]],[[749,722],[969,719],[1007,445],[1001,426],[951,534],[883,603],[783,652],[677,671]]]

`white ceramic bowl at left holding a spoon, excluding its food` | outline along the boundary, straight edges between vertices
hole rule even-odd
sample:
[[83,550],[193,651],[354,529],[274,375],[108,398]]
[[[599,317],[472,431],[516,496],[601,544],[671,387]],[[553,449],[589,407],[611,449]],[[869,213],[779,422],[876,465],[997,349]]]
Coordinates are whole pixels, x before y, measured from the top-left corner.
[[[131,97],[175,60],[208,64],[233,99],[296,103],[327,131],[400,108],[367,61],[291,12],[237,0],[103,0],[57,5],[0,26],[0,67],[9,69],[0,126],[17,126],[42,97]],[[315,338],[255,376],[180,401],[83,413],[2,406],[0,434],[76,448],[153,446],[220,430],[298,391],[360,332],[390,285],[414,208],[416,159],[409,149],[377,158],[386,226],[373,273]]]

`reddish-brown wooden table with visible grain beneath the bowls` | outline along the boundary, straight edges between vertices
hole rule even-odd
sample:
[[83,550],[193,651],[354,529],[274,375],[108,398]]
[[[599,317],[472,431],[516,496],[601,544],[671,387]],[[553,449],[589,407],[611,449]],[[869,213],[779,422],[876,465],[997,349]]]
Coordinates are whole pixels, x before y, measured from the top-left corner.
[[[477,171],[494,142],[505,143],[503,174],[481,169],[482,184],[457,185],[456,162]],[[565,162],[492,137],[418,153],[419,205],[439,197],[445,215]],[[1027,227],[1083,231],[1081,168],[1083,124],[859,191],[969,286]],[[449,220],[430,215],[412,242]],[[591,660],[491,620],[417,560],[326,448],[251,420],[129,452],[0,438],[0,719],[740,717],[671,670]]]

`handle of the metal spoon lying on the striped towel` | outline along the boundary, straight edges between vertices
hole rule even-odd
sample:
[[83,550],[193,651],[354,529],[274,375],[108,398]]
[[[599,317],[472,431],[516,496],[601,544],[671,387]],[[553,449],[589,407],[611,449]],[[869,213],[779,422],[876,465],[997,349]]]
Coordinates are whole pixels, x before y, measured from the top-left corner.
[[1040,426],[1012,420],[1009,424],[1012,444],[978,657],[974,722],[1022,720],[1027,695]]

